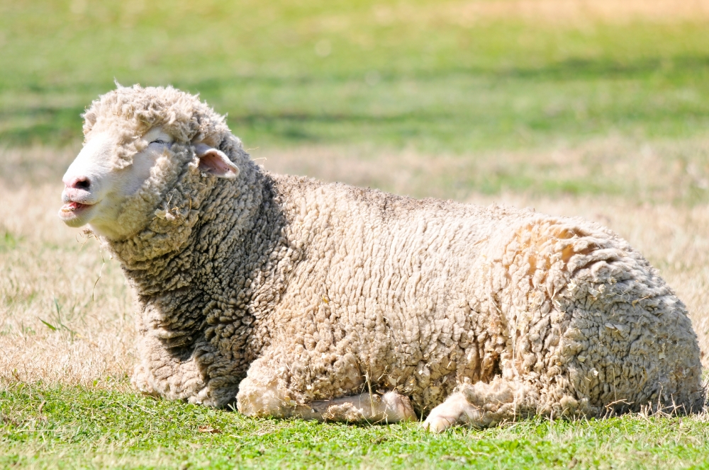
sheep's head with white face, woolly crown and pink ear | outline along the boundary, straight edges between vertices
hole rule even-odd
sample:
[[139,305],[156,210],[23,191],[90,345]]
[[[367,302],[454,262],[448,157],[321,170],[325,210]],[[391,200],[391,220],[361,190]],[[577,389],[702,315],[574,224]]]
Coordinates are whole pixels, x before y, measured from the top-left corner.
[[145,227],[185,171],[236,178],[224,118],[174,88],[118,87],[84,113],[84,148],[67,169],[60,218],[122,239]]

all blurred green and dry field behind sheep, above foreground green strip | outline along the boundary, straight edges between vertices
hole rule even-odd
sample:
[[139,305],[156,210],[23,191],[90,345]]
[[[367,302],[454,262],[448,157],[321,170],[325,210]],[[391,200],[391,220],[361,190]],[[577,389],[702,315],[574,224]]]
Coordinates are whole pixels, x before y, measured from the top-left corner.
[[114,80],[200,93],[268,170],[608,225],[707,343],[709,0],[6,0],[0,375],[130,365],[118,266],[55,216]]

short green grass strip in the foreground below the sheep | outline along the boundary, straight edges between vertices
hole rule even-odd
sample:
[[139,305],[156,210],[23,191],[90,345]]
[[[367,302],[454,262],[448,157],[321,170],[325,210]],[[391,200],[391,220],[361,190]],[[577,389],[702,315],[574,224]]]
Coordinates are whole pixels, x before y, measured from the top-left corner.
[[257,420],[120,391],[28,384],[0,392],[0,409],[4,467],[709,468],[709,427],[688,417],[536,419],[431,435],[417,423]]

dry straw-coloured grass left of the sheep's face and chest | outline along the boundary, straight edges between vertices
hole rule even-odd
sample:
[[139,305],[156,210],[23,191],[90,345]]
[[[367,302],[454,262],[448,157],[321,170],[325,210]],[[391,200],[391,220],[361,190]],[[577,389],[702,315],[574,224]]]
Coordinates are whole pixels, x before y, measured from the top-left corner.
[[101,273],[99,243],[56,215],[73,154],[0,156],[0,382],[99,384],[123,377],[133,362],[133,314],[118,263],[106,257]]

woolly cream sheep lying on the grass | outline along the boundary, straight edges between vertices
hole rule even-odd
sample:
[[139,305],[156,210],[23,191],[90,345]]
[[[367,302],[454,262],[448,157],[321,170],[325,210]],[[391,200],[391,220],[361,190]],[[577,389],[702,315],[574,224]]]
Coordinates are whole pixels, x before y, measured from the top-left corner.
[[83,117],[60,217],[121,262],[145,394],[434,432],[703,406],[685,306],[609,229],[268,173],[172,87]]

